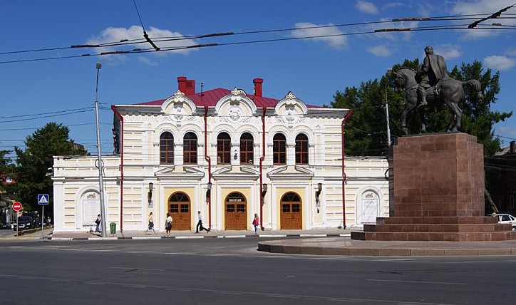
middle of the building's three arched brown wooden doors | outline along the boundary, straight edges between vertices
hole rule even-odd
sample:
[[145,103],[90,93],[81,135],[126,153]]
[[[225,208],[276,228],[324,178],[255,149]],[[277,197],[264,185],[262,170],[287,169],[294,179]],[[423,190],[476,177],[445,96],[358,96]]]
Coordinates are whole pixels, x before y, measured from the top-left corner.
[[247,202],[244,195],[239,192],[227,195],[224,211],[225,230],[247,229]]

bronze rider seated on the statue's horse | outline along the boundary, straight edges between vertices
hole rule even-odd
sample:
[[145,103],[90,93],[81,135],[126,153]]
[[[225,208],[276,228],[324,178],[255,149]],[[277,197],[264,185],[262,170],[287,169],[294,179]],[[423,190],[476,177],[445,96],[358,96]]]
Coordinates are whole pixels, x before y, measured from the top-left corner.
[[[442,79],[448,78],[446,62],[443,56],[434,54],[432,46],[427,46],[425,48],[425,54],[426,57],[418,71],[418,76],[421,80],[418,86],[418,99],[420,101],[420,106],[427,104],[426,90],[437,86]],[[435,91],[438,92],[438,88],[436,88]]]

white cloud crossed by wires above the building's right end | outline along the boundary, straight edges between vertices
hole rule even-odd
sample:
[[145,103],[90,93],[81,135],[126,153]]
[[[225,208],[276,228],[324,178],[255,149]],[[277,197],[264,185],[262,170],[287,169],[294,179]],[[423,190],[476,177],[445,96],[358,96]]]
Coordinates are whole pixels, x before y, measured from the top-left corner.
[[[332,24],[323,24],[319,26],[331,26]],[[311,38],[313,40],[317,41],[324,41],[325,43],[328,43],[329,46],[332,48],[342,48],[347,45],[348,38],[346,36],[339,36],[344,34],[344,32],[340,31],[339,29],[335,27],[329,27],[329,28],[314,28],[314,29],[300,29],[300,28],[306,28],[311,26],[318,26],[316,24],[311,24],[309,22],[299,22],[296,25],[296,28],[298,30],[292,31],[292,36],[296,38],[303,38],[303,37],[314,37],[319,36],[315,38]],[[320,37],[320,36],[326,36],[326,37]]]

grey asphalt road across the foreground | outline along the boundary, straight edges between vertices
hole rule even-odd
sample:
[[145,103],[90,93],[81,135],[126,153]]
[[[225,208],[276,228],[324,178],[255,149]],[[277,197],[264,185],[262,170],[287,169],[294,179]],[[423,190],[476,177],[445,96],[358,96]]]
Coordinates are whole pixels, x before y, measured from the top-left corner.
[[0,304],[515,304],[514,257],[321,257],[252,239],[0,243]]

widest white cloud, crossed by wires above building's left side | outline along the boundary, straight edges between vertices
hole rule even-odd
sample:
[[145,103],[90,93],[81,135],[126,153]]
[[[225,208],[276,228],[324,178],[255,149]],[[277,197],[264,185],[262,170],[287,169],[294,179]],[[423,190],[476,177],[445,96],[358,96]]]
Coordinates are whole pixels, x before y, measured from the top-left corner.
[[[159,48],[178,48],[178,47],[184,47],[184,46],[192,46],[197,44],[193,39],[182,39],[182,40],[175,40],[175,41],[158,41],[158,38],[163,37],[174,37],[174,38],[183,38],[184,36],[181,33],[172,32],[169,30],[163,30],[158,29],[154,27],[150,27],[149,31],[147,31],[148,36],[154,41],[156,46]],[[114,28],[109,27],[107,29],[104,29],[103,31],[98,34],[98,36],[88,39],[88,44],[101,44],[101,43],[116,43],[121,40],[128,39],[129,41],[134,39],[144,39],[143,38],[143,29],[141,26],[130,26],[130,28]],[[150,46],[150,43],[143,42],[143,43],[137,43],[132,44],[128,46],[110,46],[105,48],[96,48],[96,51],[98,53],[101,52],[108,52],[108,51],[130,51],[135,48],[152,48]],[[175,51],[166,51],[166,52],[158,52],[156,54],[160,56],[165,56],[167,53],[189,53],[191,51],[195,50],[194,48],[187,48],[187,49],[180,49]],[[123,56],[117,56],[119,60],[123,60]],[[141,61],[141,59],[140,59]],[[145,60],[144,60],[145,61]],[[147,62],[150,64],[150,61]]]

